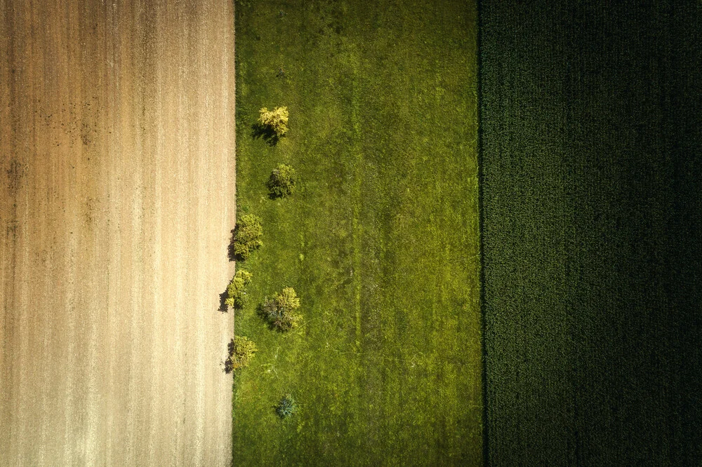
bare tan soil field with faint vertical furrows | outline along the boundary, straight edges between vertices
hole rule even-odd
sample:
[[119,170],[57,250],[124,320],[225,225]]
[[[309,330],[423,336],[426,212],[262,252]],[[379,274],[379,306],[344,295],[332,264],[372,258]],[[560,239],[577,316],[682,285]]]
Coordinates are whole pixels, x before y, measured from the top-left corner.
[[0,464],[230,463],[231,1],[0,0]]

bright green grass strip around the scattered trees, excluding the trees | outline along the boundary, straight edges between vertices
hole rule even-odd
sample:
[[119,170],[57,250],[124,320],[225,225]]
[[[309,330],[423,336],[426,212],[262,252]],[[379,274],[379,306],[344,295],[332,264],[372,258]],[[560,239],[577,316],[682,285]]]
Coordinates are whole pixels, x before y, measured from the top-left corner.
[[[475,5],[237,1],[236,28],[237,209],[265,244],[237,264],[260,350],[234,378],[234,465],[482,463]],[[276,106],[272,146],[252,126]],[[282,162],[298,189],[272,200]],[[304,320],[282,334],[255,308],[285,286]]]

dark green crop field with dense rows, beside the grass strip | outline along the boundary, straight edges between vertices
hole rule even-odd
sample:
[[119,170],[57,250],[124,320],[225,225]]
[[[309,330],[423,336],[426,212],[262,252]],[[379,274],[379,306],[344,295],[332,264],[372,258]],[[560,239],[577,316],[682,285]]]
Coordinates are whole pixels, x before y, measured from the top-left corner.
[[481,4],[490,465],[702,459],[701,13]]

